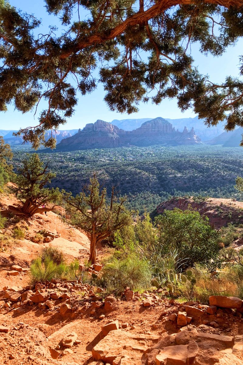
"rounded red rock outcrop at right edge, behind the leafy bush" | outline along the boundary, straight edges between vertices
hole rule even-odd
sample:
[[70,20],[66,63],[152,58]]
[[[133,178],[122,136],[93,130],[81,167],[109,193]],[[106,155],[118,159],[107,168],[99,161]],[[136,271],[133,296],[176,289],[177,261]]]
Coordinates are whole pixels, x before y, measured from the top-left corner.
[[196,209],[201,215],[207,216],[209,223],[215,228],[227,226],[228,223],[243,224],[243,203],[232,199],[207,198],[203,200],[193,199],[193,197],[173,197],[160,203],[152,216],[162,214],[164,210],[179,208],[184,211],[189,207]]

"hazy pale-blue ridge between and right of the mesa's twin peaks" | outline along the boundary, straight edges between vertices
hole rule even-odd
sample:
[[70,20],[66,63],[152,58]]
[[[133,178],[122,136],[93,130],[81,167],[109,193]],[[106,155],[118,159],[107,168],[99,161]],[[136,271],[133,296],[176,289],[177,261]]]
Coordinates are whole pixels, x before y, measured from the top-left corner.
[[[111,124],[126,131],[132,131],[133,129],[141,127],[142,123],[152,119],[153,118],[121,119],[121,120],[114,119],[112,120]],[[203,120],[199,119],[198,116],[195,116],[194,118],[179,118],[179,119],[164,118],[164,119],[172,123],[175,129],[178,128],[179,131],[182,131],[184,126],[187,126],[189,129],[193,127],[196,135],[201,139],[201,141],[208,141],[209,139],[218,136],[224,131],[223,122],[219,122],[219,124],[217,124],[216,127],[208,128],[207,126],[205,126]]]

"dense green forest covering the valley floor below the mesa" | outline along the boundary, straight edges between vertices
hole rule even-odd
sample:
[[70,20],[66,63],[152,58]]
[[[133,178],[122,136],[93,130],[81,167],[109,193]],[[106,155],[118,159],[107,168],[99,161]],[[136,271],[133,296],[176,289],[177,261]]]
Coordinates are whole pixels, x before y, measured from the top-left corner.
[[[15,168],[27,148],[13,149]],[[32,151],[32,150],[29,150]],[[237,197],[235,178],[243,176],[243,148],[221,146],[150,146],[43,153],[56,178],[53,187],[78,193],[93,172],[107,187],[116,185],[128,206],[152,211],[171,196]]]

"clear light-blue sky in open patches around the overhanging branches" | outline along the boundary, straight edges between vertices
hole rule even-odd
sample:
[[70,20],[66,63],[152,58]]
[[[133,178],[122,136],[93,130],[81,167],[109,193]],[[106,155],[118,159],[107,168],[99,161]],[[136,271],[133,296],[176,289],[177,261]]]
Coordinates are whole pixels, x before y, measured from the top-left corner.
[[[43,27],[40,32],[48,31],[48,25],[57,25],[58,22],[53,16],[49,16],[44,8],[44,0],[9,0],[9,3],[16,8],[20,8],[29,14],[34,14],[36,18],[42,18]],[[242,54],[243,39],[240,39],[235,47],[228,48],[227,52],[220,58],[212,56],[203,56],[197,47],[193,45],[192,56],[195,59],[195,65],[199,66],[201,73],[209,74],[214,82],[223,81],[225,76],[238,75],[239,55]],[[72,118],[67,120],[62,129],[82,128],[86,123],[94,123],[97,119],[111,122],[113,119],[126,118],[156,118],[161,116],[163,118],[188,118],[194,117],[192,110],[187,110],[182,113],[177,107],[176,100],[164,100],[160,105],[153,105],[152,103],[140,104],[138,113],[134,114],[119,114],[111,112],[106,103],[103,101],[105,92],[103,86],[98,88],[86,96],[79,96],[76,112]],[[42,104],[44,108],[44,104]],[[41,108],[41,109],[42,109]],[[39,109],[39,111],[41,110]],[[37,113],[38,114],[38,113]],[[20,127],[34,126],[37,123],[38,115],[34,120],[34,112],[21,114],[9,107],[5,113],[0,112],[0,129],[19,129]],[[36,124],[35,124],[36,123]]]

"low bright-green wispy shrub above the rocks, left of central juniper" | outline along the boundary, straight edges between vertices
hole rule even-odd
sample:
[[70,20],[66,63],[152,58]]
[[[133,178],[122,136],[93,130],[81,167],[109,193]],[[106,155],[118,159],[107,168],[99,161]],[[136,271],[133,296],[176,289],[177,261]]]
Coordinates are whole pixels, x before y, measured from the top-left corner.
[[32,261],[30,266],[31,281],[36,283],[38,281],[44,283],[47,280],[53,278],[60,278],[65,276],[68,272],[67,265],[61,263],[59,265],[55,264],[50,257],[46,256],[44,261],[41,257],[36,258]]

